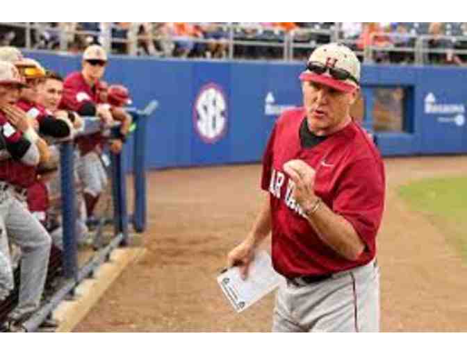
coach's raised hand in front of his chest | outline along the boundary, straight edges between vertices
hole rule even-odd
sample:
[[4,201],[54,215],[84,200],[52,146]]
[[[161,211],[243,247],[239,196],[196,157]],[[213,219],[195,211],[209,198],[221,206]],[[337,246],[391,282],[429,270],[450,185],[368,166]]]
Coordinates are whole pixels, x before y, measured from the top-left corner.
[[290,160],[284,164],[284,171],[295,184],[293,199],[304,210],[308,210],[317,198],[314,190],[315,169],[302,160]]

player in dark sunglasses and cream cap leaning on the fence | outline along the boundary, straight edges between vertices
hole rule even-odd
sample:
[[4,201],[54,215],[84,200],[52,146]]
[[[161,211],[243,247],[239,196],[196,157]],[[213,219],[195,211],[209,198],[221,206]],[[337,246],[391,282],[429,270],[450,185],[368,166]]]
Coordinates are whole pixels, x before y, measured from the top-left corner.
[[[75,71],[65,78],[60,109],[72,110],[81,116],[97,116],[101,118],[103,126],[110,126],[113,122],[110,106],[102,103],[97,94],[106,65],[106,51],[97,44],[88,47],[83,53],[81,71]],[[81,155],[77,169],[83,182],[88,217],[92,217],[99,196],[107,185],[106,171],[101,162],[103,143],[101,132],[76,139]]]

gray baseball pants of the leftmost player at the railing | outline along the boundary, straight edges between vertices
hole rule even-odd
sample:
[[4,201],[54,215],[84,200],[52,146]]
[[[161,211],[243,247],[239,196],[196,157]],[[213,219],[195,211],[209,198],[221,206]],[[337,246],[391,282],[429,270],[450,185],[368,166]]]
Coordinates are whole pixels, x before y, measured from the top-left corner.
[[22,251],[19,301],[9,315],[12,319],[19,319],[40,305],[47,277],[51,238],[31,212],[13,197],[13,191],[2,191],[0,194],[0,254],[11,262],[8,239]]

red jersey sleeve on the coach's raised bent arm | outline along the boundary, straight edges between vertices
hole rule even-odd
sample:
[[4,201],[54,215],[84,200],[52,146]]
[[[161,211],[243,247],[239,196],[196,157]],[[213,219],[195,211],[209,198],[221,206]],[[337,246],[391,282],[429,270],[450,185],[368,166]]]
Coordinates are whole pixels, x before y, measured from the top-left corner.
[[384,210],[383,173],[373,158],[351,163],[341,175],[332,203],[332,210],[352,224],[372,252]]

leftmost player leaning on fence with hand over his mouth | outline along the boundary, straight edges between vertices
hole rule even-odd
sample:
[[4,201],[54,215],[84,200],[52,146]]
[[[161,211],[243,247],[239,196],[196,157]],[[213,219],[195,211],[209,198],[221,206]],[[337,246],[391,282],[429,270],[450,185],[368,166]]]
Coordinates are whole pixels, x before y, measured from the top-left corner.
[[[13,197],[15,187],[22,187],[24,174],[29,175],[40,162],[40,150],[35,144],[38,135],[26,115],[14,109],[23,87],[24,80],[15,65],[0,62],[0,136],[11,156],[0,162],[0,258],[10,258],[8,239],[23,253],[18,305],[3,323],[10,331],[24,330],[22,323],[40,305],[51,247],[50,236],[42,224]],[[11,280],[11,268],[5,265],[7,269],[0,272]],[[6,285],[11,289],[11,283]]]

